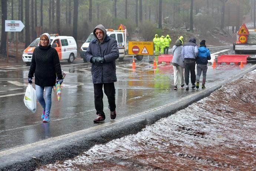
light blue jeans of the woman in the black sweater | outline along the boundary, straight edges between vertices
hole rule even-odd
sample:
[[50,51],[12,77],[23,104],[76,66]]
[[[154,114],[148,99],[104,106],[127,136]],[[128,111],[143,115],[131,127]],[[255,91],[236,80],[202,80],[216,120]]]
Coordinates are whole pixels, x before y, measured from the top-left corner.
[[[40,105],[43,107],[46,115],[50,114],[52,106],[52,86],[41,87],[36,85],[36,99],[39,101]],[[45,89],[45,99],[43,98],[43,90]]]

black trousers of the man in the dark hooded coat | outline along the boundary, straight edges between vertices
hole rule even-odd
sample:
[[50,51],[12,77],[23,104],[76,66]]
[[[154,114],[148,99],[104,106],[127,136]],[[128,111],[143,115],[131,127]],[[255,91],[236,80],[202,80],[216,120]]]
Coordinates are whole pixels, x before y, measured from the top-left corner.
[[103,111],[103,91],[102,87],[104,87],[104,93],[108,97],[108,104],[110,106],[110,111],[115,111],[115,84],[113,83],[100,83],[93,84],[94,88],[94,105],[96,109],[96,114],[101,114],[101,116],[105,119],[105,113]]

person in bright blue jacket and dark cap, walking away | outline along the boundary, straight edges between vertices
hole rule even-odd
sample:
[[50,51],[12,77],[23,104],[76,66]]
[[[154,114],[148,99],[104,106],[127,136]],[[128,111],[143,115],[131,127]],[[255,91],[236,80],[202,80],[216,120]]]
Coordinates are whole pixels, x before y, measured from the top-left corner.
[[196,58],[196,88],[199,88],[199,80],[201,73],[203,72],[203,82],[202,82],[202,89],[205,89],[205,82],[206,82],[206,72],[207,72],[207,63],[208,60],[211,59],[210,51],[206,48],[205,40],[200,42],[200,47],[198,48],[198,55]]

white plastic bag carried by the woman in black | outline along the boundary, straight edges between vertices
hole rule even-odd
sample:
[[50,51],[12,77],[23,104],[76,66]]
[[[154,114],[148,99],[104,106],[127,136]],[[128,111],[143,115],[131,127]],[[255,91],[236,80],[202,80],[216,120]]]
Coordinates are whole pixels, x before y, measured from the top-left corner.
[[25,106],[33,113],[36,112],[36,90],[33,88],[32,84],[29,83],[26,88],[24,96]]

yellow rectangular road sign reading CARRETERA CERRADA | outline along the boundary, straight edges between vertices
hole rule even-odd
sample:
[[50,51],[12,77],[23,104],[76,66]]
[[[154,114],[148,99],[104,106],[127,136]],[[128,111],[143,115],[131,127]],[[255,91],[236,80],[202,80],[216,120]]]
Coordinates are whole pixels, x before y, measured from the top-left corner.
[[128,42],[129,55],[154,55],[153,42]]

